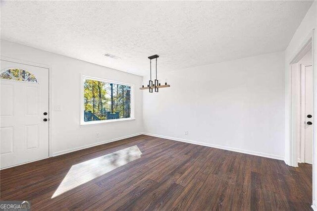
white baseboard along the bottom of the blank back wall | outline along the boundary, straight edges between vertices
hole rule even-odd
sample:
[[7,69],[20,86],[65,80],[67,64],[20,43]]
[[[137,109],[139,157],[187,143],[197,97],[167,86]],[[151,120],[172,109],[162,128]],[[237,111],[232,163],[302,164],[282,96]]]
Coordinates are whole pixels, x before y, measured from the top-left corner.
[[197,142],[197,141],[191,141],[187,139],[180,139],[180,138],[174,138],[174,137],[169,137],[169,136],[162,136],[162,135],[157,135],[157,134],[152,134],[152,133],[143,133],[144,135],[149,135],[149,136],[155,136],[159,138],[164,138],[164,139],[170,139],[173,141],[180,141],[180,142],[186,142],[190,144],[196,144],[196,145],[202,145],[206,147],[213,147],[221,150],[229,150],[237,153],[244,153],[244,154],[249,154],[249,155],[254,155],[254,156],[260,156],[264,158],[273,158],[273,159],[279,159],[279,160],[284,160],[284,157],[282,156],[277,156],[277,155],[272,155],[272,154],[267,154],[267,153],[261,153],[261,152],[256,152],[256,151],[250,151],[250,150],[243,150],[243,149],[238,149],[238,148],[233,148],[233,147],[226,147],[226,146],[221,146],[221,145],[215,145],[215,144],[209,144],[209,143],[204,143],[204,142]]

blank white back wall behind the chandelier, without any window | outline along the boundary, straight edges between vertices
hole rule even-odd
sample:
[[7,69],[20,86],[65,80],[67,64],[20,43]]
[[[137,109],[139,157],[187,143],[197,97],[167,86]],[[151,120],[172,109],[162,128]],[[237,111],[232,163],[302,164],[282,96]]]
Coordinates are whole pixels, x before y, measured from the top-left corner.
[[171,87],[144,91],[145,132],[284,159],[284,59],[279,52],[159,72]]

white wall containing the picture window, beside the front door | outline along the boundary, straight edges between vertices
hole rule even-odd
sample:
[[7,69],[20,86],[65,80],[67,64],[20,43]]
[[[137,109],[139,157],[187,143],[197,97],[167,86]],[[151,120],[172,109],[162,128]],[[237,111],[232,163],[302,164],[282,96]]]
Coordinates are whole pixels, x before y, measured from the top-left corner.
[[[62,111],[50,114],[53,155],[143,131],[142,93],[138,89],[142,77],[4,40],[1,40],[1,56],[51,67],[53,107],[62,107]],[[134,84],[136,119],[80,126],[80,74]],[[96,133],[100,133],[99,138],[96,138]]]

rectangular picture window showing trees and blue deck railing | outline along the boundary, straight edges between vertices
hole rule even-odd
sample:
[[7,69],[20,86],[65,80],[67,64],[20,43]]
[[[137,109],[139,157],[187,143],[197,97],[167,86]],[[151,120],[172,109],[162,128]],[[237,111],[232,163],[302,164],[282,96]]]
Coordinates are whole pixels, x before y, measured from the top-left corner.
[[132,119],[132,85],[83,77],[82,124]]

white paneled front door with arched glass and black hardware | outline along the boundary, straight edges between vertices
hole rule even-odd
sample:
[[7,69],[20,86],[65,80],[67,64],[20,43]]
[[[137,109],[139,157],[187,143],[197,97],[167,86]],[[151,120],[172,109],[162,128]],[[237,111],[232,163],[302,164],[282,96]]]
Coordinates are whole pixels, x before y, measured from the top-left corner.
[[0,167],[49,157],[49,70],[1,60]]

